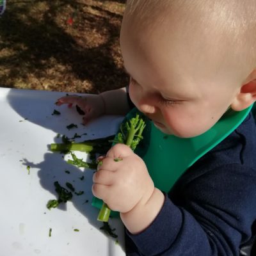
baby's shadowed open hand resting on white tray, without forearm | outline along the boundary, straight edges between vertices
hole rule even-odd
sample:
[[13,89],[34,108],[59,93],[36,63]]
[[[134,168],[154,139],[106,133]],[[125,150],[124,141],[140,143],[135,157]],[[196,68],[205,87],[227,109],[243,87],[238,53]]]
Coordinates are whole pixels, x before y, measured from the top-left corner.
[[84,112],[83,123],[87,124],[90,120],[97,118],[105,113],[104,100],[100,95],[68,95],[57,100],[56,105],[68,104],[68,106],[78,106]]

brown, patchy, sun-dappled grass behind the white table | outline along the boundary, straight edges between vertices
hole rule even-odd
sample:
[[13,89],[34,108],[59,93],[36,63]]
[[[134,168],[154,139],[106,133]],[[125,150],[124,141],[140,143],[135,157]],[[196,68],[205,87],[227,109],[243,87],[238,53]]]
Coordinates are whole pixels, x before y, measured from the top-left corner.
[[0,17],[0,86],[99,93],[125,86],[125,0],[8,0]]

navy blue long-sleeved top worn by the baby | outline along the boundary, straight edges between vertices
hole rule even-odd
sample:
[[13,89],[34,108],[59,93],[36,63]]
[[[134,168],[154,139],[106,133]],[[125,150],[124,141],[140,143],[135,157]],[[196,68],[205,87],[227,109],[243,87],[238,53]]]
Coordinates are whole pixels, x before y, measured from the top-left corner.
[[153,223],[127,234],[127,255],[239,255],[256,220],[256,125],[250,113],[166,195]]

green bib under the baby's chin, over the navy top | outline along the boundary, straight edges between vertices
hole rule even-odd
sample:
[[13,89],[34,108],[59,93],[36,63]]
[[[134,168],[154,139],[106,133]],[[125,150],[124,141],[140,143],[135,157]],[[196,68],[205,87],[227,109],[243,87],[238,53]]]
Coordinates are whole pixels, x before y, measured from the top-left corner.
[[[135,152],[147,165],[156,188],[166,193],[170,191],[182,173],[243,122],[252,106],[243,111],[227,111],[211,129],[193,138],[166,135],[146,118],[143,140],[140,141]],[[138,109],[132,109],[125,116],[123,122],[136,116],[136,113],[138,113]],[[93,198],[92,204],[100,208],[102,200]]]

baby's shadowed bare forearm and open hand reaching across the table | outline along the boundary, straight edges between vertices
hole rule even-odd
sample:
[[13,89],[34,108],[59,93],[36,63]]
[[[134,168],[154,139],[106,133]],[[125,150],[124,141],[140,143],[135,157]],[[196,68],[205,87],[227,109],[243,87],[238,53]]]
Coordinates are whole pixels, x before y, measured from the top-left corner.
[[130,110],[126,88],[110,90],[98,95],[68,95],[57,100],[56,105],[62,104],[79,106],[84,112],[84,124],[101,115],[125,115]]

